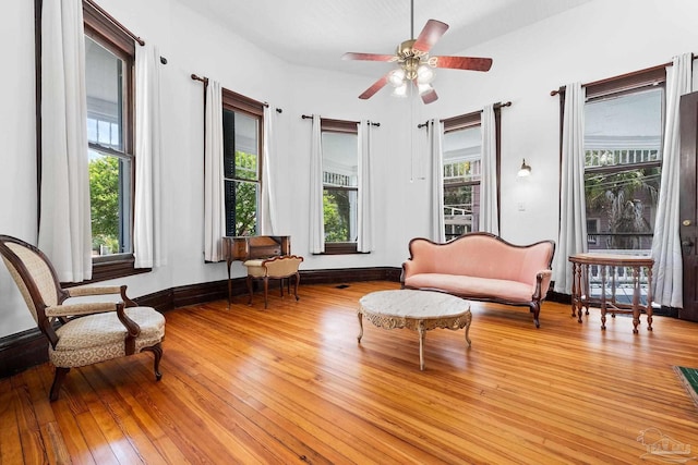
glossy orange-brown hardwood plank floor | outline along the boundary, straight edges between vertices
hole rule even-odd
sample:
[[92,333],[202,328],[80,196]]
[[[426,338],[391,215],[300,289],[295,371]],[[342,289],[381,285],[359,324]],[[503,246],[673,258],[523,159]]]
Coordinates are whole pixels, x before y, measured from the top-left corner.
[[527,308],[472,303],[472,347],[430,331],[420,371],[413,331],[364,320],[357,343],[358,299],[397,287],[168,311],[160,382],[151,354],[71,370],[55,403],[49,365],[2,379],[0,462],[642,463],[658,431],[698,450],[672,370],[698,367],[697,325],[655,317],[648,332],[642,317],[633,334],[618,316],[601,331],[598,309],[579,325],[544,303],[537,330]]

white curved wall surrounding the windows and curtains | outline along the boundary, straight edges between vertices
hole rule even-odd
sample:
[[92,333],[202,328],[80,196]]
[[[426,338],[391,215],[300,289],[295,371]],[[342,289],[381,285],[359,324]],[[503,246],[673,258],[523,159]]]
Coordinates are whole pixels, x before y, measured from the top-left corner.
[[[12,72],[0,75],[0,233],[35,242],[34,11],[27,0],[0,7],[0,48]],[[225,279],[225,264],[203,264],[203,90],[192,73],[284,110],[275,185],[279,234],[292,236],[303,269],[399,266],[408,241],[429,233],[429,183],[423,155],[428,118],[447,118],[512,100],[502,110],[502,234],[515,243],[556,238],[558,100],[550,90],[664,63],[698,51],[693,0],[595,0],[565,14],[462,52],[494,59],[489,73],[438,72],[440,100],[429,107],[395,100],[387,90],[357,96],[365,76],[297,66],[226,30],[177,0],[101,0],[100,4],[168,59],[161,68],[166,265],[119,280],[132,296]],[[448,19],[441,19],[448,22]],[[435,52],[438,52],[436,49]],[[377,76],[376,76],[377,77]],[[310,121],[301,114],[381,123],[375,130],[376,252],[309,254]],[[521,181],[526,157],[533,168]],[[524,204],[524,211],[518,210]],[[234,276],[242,276],[240,264]],[[0,267],[0,336],[34,326],[14,284]]]

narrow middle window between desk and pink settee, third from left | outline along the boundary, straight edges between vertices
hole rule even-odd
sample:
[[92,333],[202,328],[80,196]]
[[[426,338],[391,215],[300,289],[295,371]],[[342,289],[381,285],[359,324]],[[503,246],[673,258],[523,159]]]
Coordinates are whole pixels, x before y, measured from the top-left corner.
[[325,253],[357,252],[359,196],[358,123],[321,120]]

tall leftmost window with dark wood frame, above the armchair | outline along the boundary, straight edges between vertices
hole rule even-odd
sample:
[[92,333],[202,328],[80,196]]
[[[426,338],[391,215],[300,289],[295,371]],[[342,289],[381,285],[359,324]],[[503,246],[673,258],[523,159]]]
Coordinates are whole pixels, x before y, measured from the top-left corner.
[[133,268],[135,44],[83,2],[93,243],[92,281],[148,271]]

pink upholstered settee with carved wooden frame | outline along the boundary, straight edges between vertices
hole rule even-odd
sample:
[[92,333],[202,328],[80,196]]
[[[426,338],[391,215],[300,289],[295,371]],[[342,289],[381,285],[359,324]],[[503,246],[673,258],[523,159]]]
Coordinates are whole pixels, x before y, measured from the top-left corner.
[[404,289],[441,291],[472,301],[528,306],[540,327],[555,253],[553,241],[514,245],[490,233],[464,234],[445,244],[410,241]]

